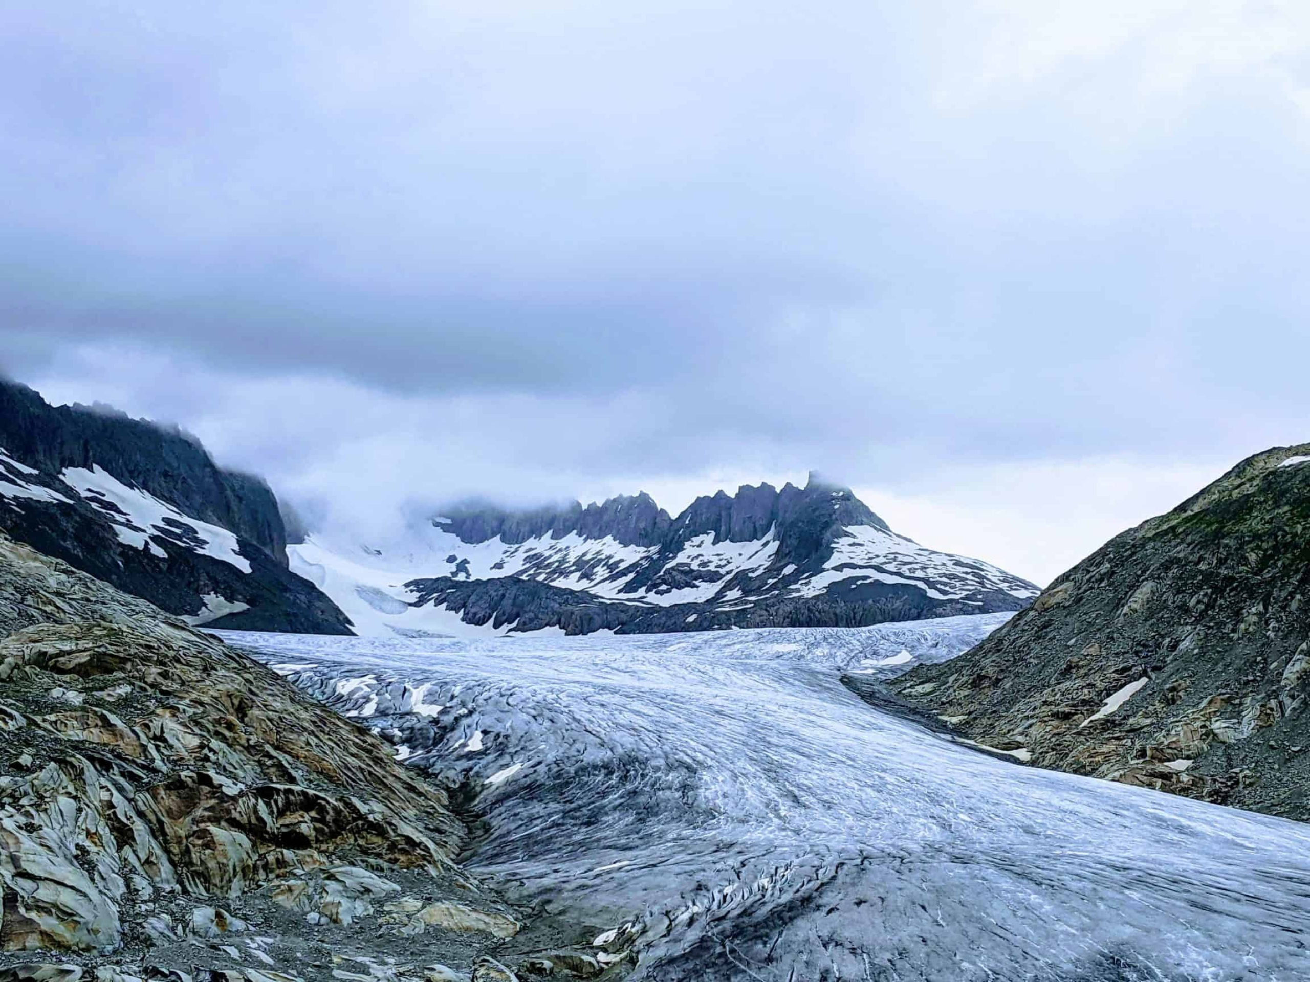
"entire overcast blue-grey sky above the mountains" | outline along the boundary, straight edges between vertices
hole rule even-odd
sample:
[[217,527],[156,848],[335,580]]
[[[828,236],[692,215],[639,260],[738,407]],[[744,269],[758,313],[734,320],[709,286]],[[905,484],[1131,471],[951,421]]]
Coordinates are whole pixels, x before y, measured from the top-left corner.
[[1310,439],[1310,4],[0,5],[0,364],[337,518],[853,484],[1045,581]]

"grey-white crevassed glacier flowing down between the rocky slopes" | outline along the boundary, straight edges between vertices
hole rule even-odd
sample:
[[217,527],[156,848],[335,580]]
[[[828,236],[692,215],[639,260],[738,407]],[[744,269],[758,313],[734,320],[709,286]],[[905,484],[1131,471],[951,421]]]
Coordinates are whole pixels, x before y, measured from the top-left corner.
[[468,865],[634,978],[1310,978],[1310,827],[879,711],[1006,614],[604,638],[224,636],[482,818]]

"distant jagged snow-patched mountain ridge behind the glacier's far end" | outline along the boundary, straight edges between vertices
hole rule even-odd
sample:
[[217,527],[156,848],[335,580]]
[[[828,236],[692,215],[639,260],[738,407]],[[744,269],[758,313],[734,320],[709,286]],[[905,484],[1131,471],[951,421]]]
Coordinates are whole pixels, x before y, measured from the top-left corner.
[[288,553],[372,635],[857,627],[1018,610],[1039,592],[896,534],[814,474],[804,488],[702,496],[676,517],[646,494],[465,504],[396,542],[310,534]]

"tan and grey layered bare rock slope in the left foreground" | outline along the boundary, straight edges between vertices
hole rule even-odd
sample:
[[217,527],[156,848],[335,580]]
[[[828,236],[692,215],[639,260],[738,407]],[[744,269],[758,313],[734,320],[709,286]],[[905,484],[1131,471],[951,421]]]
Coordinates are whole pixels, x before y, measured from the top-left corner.
[[523,922],[452,862],[447,795],[367,731],[4,536],[0,635],[0,979],[466,979],[507,957]]

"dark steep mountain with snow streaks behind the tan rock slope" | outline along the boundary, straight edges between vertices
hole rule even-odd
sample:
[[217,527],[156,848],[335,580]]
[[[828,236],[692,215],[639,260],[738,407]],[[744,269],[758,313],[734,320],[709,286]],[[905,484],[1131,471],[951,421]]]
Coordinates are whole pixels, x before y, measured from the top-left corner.
[[292,573],[278,501],[199,441],[0,381],[0,529],[195,625],[347,634]]

